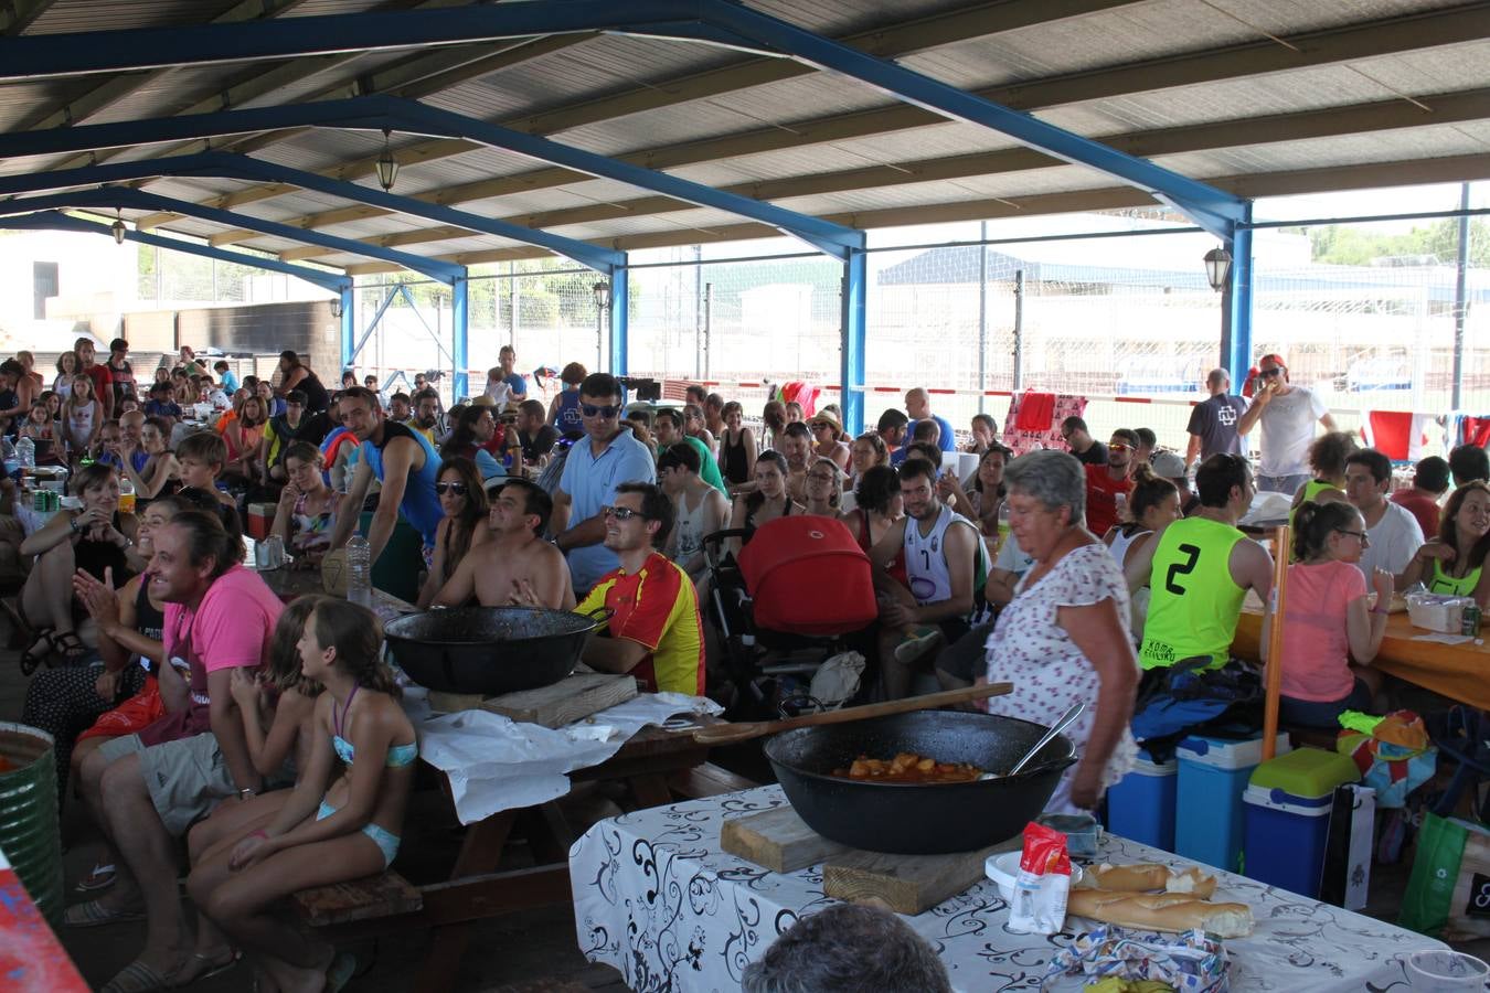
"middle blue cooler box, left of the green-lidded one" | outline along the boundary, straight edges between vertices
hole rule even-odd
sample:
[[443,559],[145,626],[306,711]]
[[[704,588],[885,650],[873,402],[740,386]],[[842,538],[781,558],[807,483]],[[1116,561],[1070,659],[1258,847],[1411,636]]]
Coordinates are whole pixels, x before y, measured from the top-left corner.
[[[1289,750],[1289,735],[1278,734],[1277,755]],[[1241,869],[1243,811],[1252,770],[1262,761],[1262,738],[1185,738],[1179,759],[1174,801],[1174,853],[1219,869]]]

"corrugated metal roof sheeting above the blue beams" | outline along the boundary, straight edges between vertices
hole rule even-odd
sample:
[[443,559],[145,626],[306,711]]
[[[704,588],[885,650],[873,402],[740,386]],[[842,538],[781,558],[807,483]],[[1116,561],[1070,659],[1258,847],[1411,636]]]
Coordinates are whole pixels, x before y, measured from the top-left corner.
[[[1320,61],[1316,55],[1329,49],[1331,36],[1325,36],[1323,42],[1314,39],[1301,48],[1289,48],[1289,39],[1308,33],[1371,25],[1404,15],[1417,18],[1416,24],[1430,24],[1436,10],[1462,10],[1466,16],[1480,10],[1465,0],[1115,1],[1094,3],[1088,13],[1052,15],[1055,19],[1001,31],[992,25],[1018,16],[1021,4],[977,4],[973,0],[897,0],[894,4],[882,0],[839,0],[831,4],[821,0],[748,1],[827,36],[876,31],[875,43],[903,66],[957,86],[979,89],[1016,83],[1025,94],[1021,100],[1031,106],[1053,104],[1036,109],[1036,116],[1083,135],[1129,140],[1168,128],[1235,121],[1232,131],[1220,137],[1211,135],[1204,143],[1191,140],[1196,150],[1156,159],[1186,176],[1266,176],[1298,170],[1323,170],[1328,176],[1331,168],[1363,162],[1432,162],[1475,155],[1490,161],[1490,113],[1457,124],[1424,124],[1433,121],[1435,94],[1490,89],[1490,30],[1478,34],[1472,27],[1457,34],[1444,31],[1441,43],[1404,48],[1398,31],[1390,25],[1378,27],[1374,34],[1368,31],[1365,40],[1354,42],[1356,48],[1350,49],[1351,57],[1345,61]],[[234,6],[232,0],[55,0],[28,31],[195,24]],[[304,0],[280,16],[346,15],[408,6],[414,6],[413,0]],[[925,37],[928,28],[918,21],[928,15],[952,16],[939,19],[931,28],[939,33],[937,43],[912,42]],[[1480,16],[1484,18],[1483,10]],[[958,25],[961,33],[948,28],[948,24]],[[1411,36],[1411,31],[1402,33],[1402,37]],[[1199,61],[1201,71],[1185,85],[1170,82],[1171,77],[1162,73],[1109,71],[1237,46],[1250,46],[1249,54],[1226,55],[1228,60],[1237,64],[1250,60],[1266,71],[1243,74],[1241,68],[1232,67],[1207,80],[1207,63]],[[565,45],[519,45],[516,52],[486,58],[496,51],[498,46],[490,43],[474,45],[469,57],[486,61],[453,70],[453,64],[465,61],[465,49],[401,49],[119,77],[0,83],[0,132],[57,113],[67,101],[86,100],[100,86],[116,88],[107,94],[113,103],[98,109],[88,122],[213,107],[221,103],[221,94],[234,86],[240,88],[237,92],[255,94],[262,88],[252,83],[262,73],[276,70],[283,79],[274,77],[270,92],[252,95],[243,106],[311,100],[326,92],[344,94],[346,85],[358,79],[392,85],[387,80],[423,79],[434,71],[446,85],[441,92],[422,95],[432,106],[514,128],[560,128],[557,138],[565,143],[605,155],[624,155],[630,161],[678,162],[670,171],[696,183],[746,191],[754,183],[770,183],[763,189],[772,195],[800,191],[802,195],[778,202],[805,213],[904,213],[936,204],[1018,202],[1043,194],[1115,185],[1113,179],[1091,168],[1028,168],[1019,158],[1013,159],[1024,167],[1018,171],[895,182],[901,176],[915,179],[919,174],[897,173],[898,164],[1001,152],[1016,144],[1003,134],[968,124],[928,124],[927,118],[906,113],[891,97],[852,79],[824,73],[784,76],[772,71],[779,63],[718,46],[597,34]],[[1278,52],[1284,54],[1283,60],[1275,60]],[[291,68],[283,68],[286,64]],[[417,71],[410,71],[411,66],[419,67]],[[736,71],[736,67],[748,68]],[[712,82],[718,76],[715,70],[727,70],[726,77],[735,85],[720,91]],[[1053,88],[1055,80],[1071,74],[1085,74],[1082,79],[1089,82],[1112,77],[1113,82],[1100,88],[1109,95],[1073,101],[1064,94],[1077,91]],[[420,86],[428,89],[425,83]],[[632,97],[615,100],[623,94]],[[1366,104],[1411,107],[1414,100],[1426,100],[1427,110],[1420,116],[1398,115],[1393,128],[1345,135],[1322,132],[1313,138],[1274,141],[1266,130],[1244,121],[1259,115],[1332,112]],[[1460,100],[1459,106],[1466,106],[1466,101]],[[592,107],[602,107],[606,113],[596,119]],[[1340,115],[1334,116],[1338,119]],[[1454,113],[1454,119],[1462,116],[1466,116],[1463,110]],[[215,147],[237,144],[231,138],[213,141]],[[134,161],[198,147],[200,143],[176,143],[115,149],[101,152],[100,159]],[[253,138],[250,147],[253,155],[270,162],[338,174],[341,167],[374,158],[383,147],[383,138],[367,131],[286,131]],[[392,147],[402,164],[395,194],[438,198],[440,202],[490,217],[522,220],[560,211],[556,232],[565,237],[609,243],[654,235],[687,241],[742,220],[720,210],[679,207],[676,201],[606,179],[556,185],[559,173],[554,170],[498,149],[478,147],[451,155],[451,149],[457,147],[454,143],[410,134],[393,134]],[[64,161],[77,164],[85,155],[0,159],[0,176],[45,171]],[[994,161],[1010,159],[995,155]],[[1472,165],[1465,168],[1472,171]],[[957,171],[967,170],[966,164],[960,164]],[[1490,173],[1490,165],[1481,171]],[[849,176],[824,179],[811,188],[793,185],[797,179],[830,173]],[[371,188],[375,180],[361,176],[356,182]],[[255,183],[200,177],[161,179],[146,186],[167,197],[198,201],[241,191],[244,197],[237,210],[244,216],[291,225],[313,222],[328,232],[356,240],[393,237],[401,250],[411,253],[450,256],[514,244],[487,235],[450,237],[446,225],[411,214],[386,214],[322,194],[264,197],[256,192]],[[627,208],[638,201],[642,205],[666,204],[668,208],[657,213]],[[596,219],[617,213],[611,207],[615,204],[624,211],[612,219]],[[328,214],[337,217],[337,223],[326,225]],[[165,229],[206,237],[226,226],[180,219],[167,222]],[[417,240],[426,231],[431,240]],[[264,237],[241,244],[274,250],[292,247],[288,240]],[[367,262],[364,256],[346,253],[316,258],[338,265]]]

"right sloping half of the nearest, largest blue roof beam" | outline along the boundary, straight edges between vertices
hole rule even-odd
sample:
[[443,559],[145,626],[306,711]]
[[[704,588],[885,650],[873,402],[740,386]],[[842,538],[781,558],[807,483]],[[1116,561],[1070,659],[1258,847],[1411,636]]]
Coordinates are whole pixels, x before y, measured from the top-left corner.
[[[1055,158],[1098,170],[1137,186],[1162,202],[1189,214],[1220,238],[1231,238],[1246,217],[1246,201],[1146,159],[1119,152],[1100,141],[1058,128],[1039,118],[974,97],[895,63],[814,34],[779,18],[729,0],[699,0],[706,31],[724,28],[752,39],[766,52],[787,55],[818,68],[851,76],[897,100],[942,116],[992,128]],[[678,37],[693,37],[687,22]],[[708,40],[705,37],[703,40]]]

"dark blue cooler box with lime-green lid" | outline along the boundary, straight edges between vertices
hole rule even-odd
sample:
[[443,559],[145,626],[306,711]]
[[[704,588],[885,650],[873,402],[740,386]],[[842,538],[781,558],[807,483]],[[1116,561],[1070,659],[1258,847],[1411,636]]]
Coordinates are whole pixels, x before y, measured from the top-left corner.
[[1323,749],[1299,749],[1253,770],[1243,795],[1246,874],[1317,899],[1335,788],[1359,779],[1348,756]]

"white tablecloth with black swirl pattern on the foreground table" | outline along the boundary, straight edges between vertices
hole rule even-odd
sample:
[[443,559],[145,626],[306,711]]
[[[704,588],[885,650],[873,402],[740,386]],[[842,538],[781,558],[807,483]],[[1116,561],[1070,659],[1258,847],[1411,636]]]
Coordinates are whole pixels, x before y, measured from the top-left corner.
[[[831,901],[822,866],[778,874],[720,850],[720,825],[785,802],[778,786],[602,820],[569,853],[580,950],[638,993],[739,990],[741,972],[799,916]],[[1101,861],[1191,865],[1107,837]],[[1278,993],[1407,989],[1405,959],[1442,945],[1296,893],[1219,872],[1217,899],[1252,907],[1258,927],[1228,941],[1232,990]],[[1039,989],[1073,935],[1006,929],[1007,905],[983,880],[906,919],[937,950],[958,990]],[[1074,919],[1073,919],[1074,922]],[[1079,989],[1062,980],[1056,989]]]

